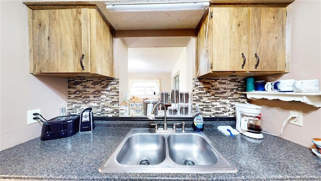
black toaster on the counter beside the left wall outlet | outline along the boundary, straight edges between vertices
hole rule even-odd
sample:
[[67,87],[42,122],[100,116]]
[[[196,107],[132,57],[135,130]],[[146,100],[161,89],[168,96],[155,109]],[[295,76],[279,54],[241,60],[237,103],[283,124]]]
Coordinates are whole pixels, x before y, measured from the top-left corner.
[[59,116],[42,125],[41,140],[51,140],[74,135],[79,131],[80,116]]

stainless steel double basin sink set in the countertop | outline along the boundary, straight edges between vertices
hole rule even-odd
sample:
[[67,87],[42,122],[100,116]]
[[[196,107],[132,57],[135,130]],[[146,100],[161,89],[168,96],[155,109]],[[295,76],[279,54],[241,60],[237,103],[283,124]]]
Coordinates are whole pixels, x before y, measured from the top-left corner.
[[218,173],[237,172],[202,132],[186,129],[176,133],[155,133],[153,129],[132,129],[100,172]]

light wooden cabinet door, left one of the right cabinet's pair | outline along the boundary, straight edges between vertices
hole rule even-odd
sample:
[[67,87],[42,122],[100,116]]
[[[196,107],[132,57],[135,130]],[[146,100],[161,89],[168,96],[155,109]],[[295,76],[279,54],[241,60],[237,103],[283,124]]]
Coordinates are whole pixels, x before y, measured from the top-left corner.
[[[213,8],[213,71],[248,69],[246,58],[249,52],[249,18],[248,8]],[[242,66],[244,60],[246,62]]]

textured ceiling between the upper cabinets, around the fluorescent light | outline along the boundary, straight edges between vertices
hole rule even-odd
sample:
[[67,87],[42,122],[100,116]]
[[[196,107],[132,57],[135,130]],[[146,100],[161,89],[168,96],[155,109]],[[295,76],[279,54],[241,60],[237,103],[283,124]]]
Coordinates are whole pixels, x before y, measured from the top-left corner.
[[[96,5],[110,25],[117,30],[161,30],[161,29],[195,29],[205,10],[193,11],[164,11],[164,12],[110,12],[106,5],[131,4],[164,4],[164,3],[192,3],[208,2],[208,0],[23,0],[31,9],[44,5],[54,6],[85,6]],[[34,7],[32,7],[34,6]],[[38,6],[38,7],[37,7]]]

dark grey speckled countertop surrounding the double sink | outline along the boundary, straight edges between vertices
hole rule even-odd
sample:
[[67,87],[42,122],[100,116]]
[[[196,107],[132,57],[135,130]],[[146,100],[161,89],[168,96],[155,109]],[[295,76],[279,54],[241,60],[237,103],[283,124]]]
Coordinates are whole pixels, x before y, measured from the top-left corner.
[[[131,128],[147,121],[96,121],[92,133],[41,141],[40,137],[0,152],[0,179],[27,180],[321,180],[321,159],[309,148],[264,134],[256,140],[217,130],[235,121],[206,122],[204,133],[238,169],[237,173],[100,173]],[[171,122],[169,122],[171,124]]]

